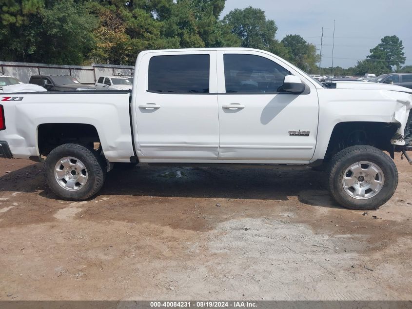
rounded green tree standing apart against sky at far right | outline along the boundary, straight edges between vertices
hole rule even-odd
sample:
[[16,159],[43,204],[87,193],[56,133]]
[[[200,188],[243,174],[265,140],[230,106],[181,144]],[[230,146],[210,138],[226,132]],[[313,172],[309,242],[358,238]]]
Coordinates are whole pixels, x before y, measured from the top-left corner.
[[392,71],[394,66],[400,68],[406,60],[402,41],[395,35],[386,36],[380,41],[379,44],[370,50],[371,55],[366,58],[384,62],[389,71]]

